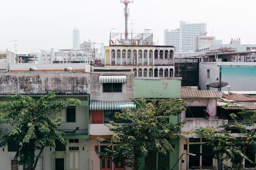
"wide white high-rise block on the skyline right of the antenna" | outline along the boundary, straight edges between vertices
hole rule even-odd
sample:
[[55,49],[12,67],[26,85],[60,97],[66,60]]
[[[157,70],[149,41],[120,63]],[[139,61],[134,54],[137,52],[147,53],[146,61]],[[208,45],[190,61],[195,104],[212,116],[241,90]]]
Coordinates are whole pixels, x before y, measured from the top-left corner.
[[186,23],[180,21],[180,28],[164,30],[164,45],[175,46],[176,53],[195,52],[195,37],[206,34],[205,23]]

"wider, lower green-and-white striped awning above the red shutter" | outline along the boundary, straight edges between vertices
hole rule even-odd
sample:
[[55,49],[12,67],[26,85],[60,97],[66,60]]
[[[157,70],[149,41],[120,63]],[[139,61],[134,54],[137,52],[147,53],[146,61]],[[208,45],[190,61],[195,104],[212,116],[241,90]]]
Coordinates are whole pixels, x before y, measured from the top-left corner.
[[122,110],[129,108],[135,110],[136,106],[132,101],[92,101],[90,102],[90,110]]

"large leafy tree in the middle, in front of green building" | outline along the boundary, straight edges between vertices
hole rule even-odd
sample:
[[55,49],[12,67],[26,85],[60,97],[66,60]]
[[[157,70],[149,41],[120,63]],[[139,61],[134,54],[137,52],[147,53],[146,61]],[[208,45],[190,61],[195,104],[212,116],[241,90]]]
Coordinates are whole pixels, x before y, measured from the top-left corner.
[[[172,124],[171,116],[178,116],[185,110],[185,101],[176,99],[133,100],[136,110],[124,109],[115,117],[125,120],[125,124],[111,121],[108,125],[113,132],[111,139],[97,138],[109,142],[108,148],[97,152],[100,158],[111,157],[113,162],[123,162],[125,166],[138,169],[139,159],[149,152],[167,155],[174,151],[170,139],[179,138],[183,123]],[[113,147],[113,148],[112,148]]]

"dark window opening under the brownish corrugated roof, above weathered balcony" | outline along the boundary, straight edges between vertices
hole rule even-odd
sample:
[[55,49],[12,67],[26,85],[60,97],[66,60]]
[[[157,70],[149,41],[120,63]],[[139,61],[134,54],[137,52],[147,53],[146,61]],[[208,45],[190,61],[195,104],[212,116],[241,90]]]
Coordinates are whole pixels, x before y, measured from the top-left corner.
[[206,106],[189,106],[186,110],[186,118],[205,118]]

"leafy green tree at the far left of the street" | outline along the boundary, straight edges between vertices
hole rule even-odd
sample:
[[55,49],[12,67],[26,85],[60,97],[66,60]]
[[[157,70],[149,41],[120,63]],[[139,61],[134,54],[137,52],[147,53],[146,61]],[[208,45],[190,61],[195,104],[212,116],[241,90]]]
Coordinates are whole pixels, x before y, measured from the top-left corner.
[[[0,136],[0,146],[8,143],[17,145],[15,159],[20,165],[35,170],[38,159],[45,146],[55,147],[51,138],[65,143],[63,132],[58,130],[61,126],[61,118],[52,120],[49,115],[58,113],[67,106],[76,106],[80,103],[78,99],[67,99],[56,101],[53,92],[34,99],[29,96],[16,94],[7,96],[8,101],[0,104],[1,124],[11,125],[8,132]],[[35,152],[39,151],[38,155]]]

